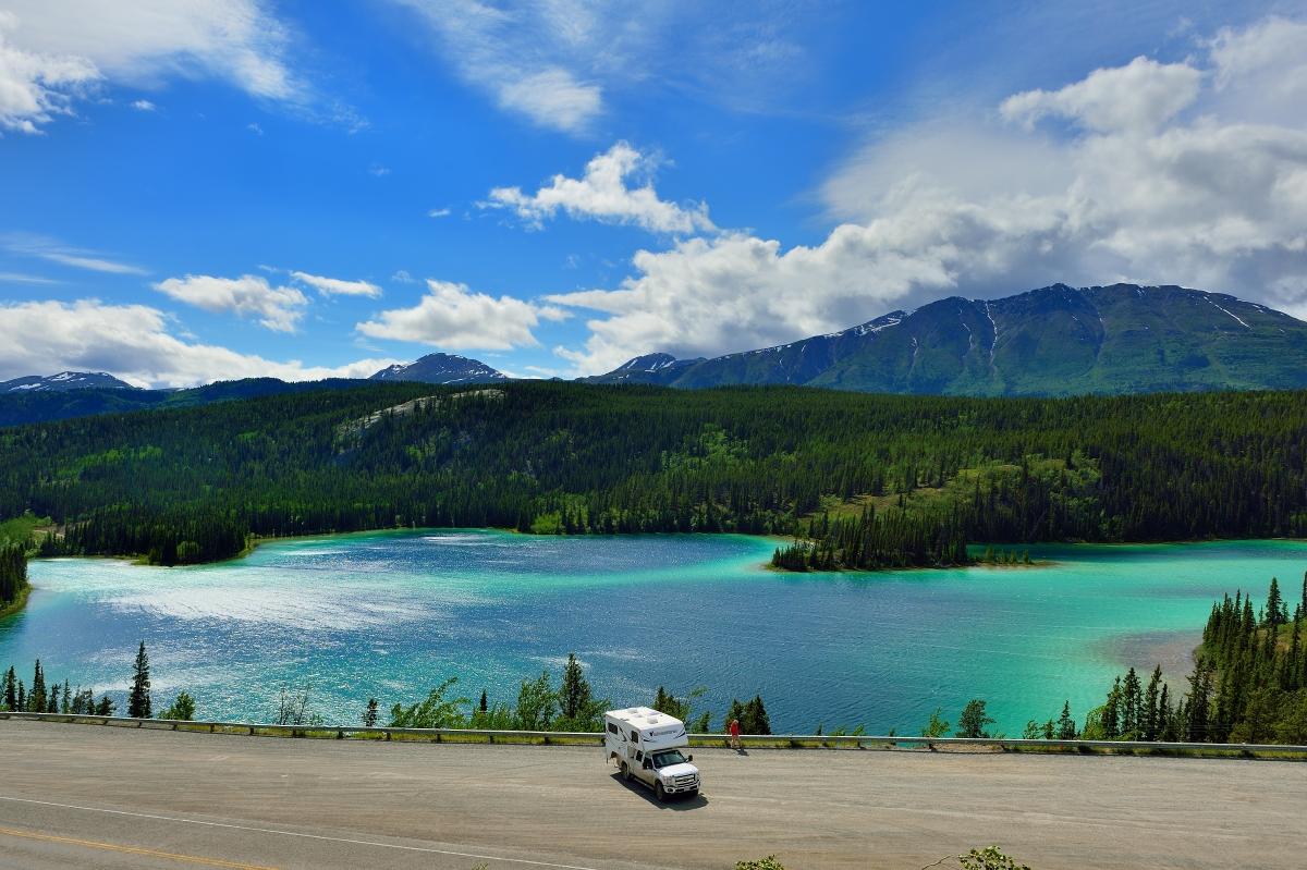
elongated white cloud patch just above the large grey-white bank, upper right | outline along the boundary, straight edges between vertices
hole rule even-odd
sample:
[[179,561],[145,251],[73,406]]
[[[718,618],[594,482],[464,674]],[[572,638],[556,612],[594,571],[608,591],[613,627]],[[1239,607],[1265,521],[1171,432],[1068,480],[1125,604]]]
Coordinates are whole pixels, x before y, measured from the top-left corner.
[[1151,132],[1193,105],[1201,81],[1202,73],[1187,63],[1136,57],[1125,67],[1095,69],[1061,90],[1013,94],[999,111],[1027,127],[1060,115],[1099,132]]

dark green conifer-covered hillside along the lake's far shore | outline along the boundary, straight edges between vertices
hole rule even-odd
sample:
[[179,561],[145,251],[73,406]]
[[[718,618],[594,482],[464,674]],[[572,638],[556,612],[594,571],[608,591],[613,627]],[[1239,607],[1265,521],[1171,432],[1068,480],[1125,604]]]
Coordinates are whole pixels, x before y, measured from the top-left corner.
[[967,541],[1307,534],[1304,431],[1291,392],[378,383],[0,430],[0,519],[163,564],[396,525],[802,532],[802,566],[946,564]]

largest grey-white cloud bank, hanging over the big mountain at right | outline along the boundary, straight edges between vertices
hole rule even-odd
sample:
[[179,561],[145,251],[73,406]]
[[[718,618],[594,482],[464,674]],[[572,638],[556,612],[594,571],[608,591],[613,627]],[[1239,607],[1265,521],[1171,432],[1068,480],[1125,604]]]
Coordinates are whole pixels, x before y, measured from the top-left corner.
[[[1231,97],[1276,57],[1278,90]],[[1183,64],[1134,60],[881,136],[822,187],[840,221],[822,243],[725,233],[642,251],[620,286],[550,297],[600,315],[584,347],[557,353],[588,374],[1055,281],[1183,283],[1302,316],[1304,57],[1307,25],[1269,20],[1221,31]]]

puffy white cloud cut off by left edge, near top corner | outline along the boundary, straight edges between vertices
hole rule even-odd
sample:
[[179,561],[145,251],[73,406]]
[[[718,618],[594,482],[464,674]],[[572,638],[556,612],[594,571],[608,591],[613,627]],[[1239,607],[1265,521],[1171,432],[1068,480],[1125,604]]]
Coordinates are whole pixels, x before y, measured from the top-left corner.
[[55,115],[72,114],[72,102],[99,81],[99,71],[82,57],[24,51],[9,42],[17,24],[0,12],[0,131],[39,133]]

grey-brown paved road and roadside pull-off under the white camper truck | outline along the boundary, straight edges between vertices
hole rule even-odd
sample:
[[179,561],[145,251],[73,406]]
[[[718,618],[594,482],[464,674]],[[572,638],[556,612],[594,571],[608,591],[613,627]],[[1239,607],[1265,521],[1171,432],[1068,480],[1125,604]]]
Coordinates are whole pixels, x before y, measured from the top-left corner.
[[[1303,867],[1307,764],[695,750],[659,805],[600,750],[0,722],[0,867]],[[944,866],[957,866],[945,863]]]

